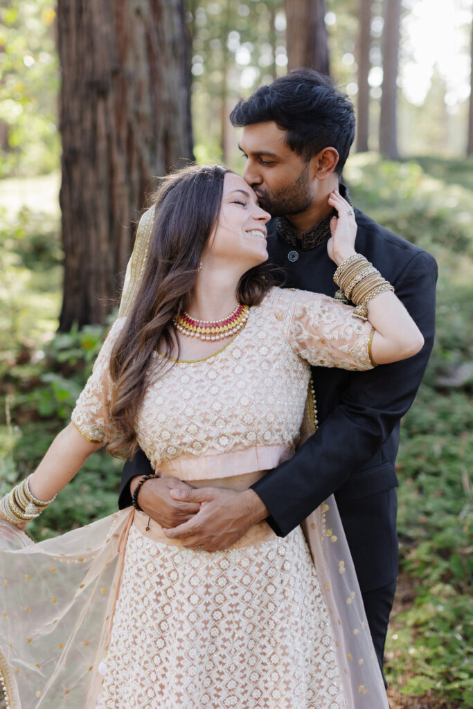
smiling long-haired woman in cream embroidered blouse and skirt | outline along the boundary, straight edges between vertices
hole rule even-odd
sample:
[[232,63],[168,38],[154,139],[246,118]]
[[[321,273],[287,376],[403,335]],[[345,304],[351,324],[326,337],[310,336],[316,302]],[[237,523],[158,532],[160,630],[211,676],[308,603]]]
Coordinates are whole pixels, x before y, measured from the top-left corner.
[[262,522],[219,552],[167,537],[140,511],[140,485],[132,508],[54,540],[20,531],[102,445],[122,457],[140,445],[155,474],[246,491],[310,432],[311,365],[371,369],[421,349],[355,252],[350,205],[337,191],[328,201],[335,281],[356,308],[277,286],[269,214],[236,174],[163,179],[126,315],[72,423],[0,503],[9,707],[388,707],[333,498],[304,530],[281,538]]

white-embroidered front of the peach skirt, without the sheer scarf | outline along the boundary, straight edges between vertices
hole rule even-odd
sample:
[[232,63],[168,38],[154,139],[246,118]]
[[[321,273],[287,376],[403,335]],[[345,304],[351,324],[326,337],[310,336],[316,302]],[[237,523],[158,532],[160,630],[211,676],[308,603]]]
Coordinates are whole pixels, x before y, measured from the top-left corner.
[[156,543],[132,527],[121,588],[101,706],[345,708],[300,528],[208,553]]

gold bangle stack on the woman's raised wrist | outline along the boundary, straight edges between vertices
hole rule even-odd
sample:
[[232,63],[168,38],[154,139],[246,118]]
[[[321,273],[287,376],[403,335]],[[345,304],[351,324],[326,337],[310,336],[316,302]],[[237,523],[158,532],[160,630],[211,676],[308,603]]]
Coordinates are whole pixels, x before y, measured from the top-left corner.
[[353,254],[345,259],[335,271],[333,280],[340,289],[335,298],[355,303],[353,316],[361,320],[368,318],[369,301],[385,291],[394,291],[389,281],[361,254]]

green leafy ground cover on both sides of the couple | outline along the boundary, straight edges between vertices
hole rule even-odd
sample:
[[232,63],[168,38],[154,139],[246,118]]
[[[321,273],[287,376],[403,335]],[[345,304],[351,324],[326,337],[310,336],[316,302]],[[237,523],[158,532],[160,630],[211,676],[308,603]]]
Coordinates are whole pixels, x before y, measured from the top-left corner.
[[[367,154],[350,158],[345,172],[357,206],[440,265],[435,350],[403,421],[398,457],[401,575],[386,645],[393,709],[473,706],[472,168],[471,161],[391,163]],[[42,184],[54,194],[54,178]],[[0,200],[0,494],[33,469],[67,422],[104,333],[55,335],[57,208],[52,200],[45,212],[34,189],[25,201],[12,209]],[[120,470],[120,462],[94,454],[32,525],[33,535],[110,513]]]

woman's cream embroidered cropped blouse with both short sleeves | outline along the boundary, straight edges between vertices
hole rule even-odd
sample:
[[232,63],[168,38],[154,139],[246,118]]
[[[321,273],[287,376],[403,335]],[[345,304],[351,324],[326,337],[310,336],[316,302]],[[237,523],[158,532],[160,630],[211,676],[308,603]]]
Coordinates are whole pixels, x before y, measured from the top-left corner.
[[[152,467],[191,481],[269,470],[291,457],[311,365],[374,367],[374,331],[352,312],[325,295],[274,287],[221,350],[178,360],[159,376],[151,364],[136,435]],[[113,324],[72,412],[79,432],[96,442],[106,442],[108,362],[125,322]]]

